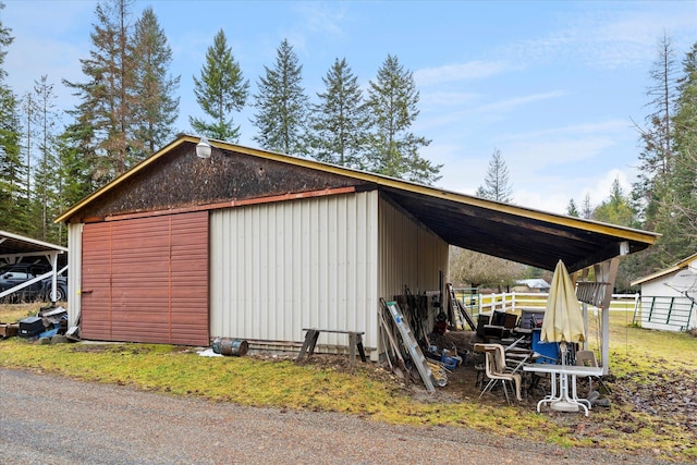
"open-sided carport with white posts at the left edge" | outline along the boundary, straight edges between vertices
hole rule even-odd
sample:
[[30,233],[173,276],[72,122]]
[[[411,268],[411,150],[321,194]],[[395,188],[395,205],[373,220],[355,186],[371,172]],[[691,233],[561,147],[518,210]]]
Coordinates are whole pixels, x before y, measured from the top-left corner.
[[[11,295],[22,289],[51,277],[51,296],[56,295],[56,279],[62,274],[68,265],[59,269],[59,258],[66,258],[68,248],[48,242],[37,241],[32,237],[0,231],[0,265],[26,262],[44,258],[51,265],[51,271],[26,281],[7,291],[0,292],[0,298]],[[64,261],[64,260],[62,260]]]

